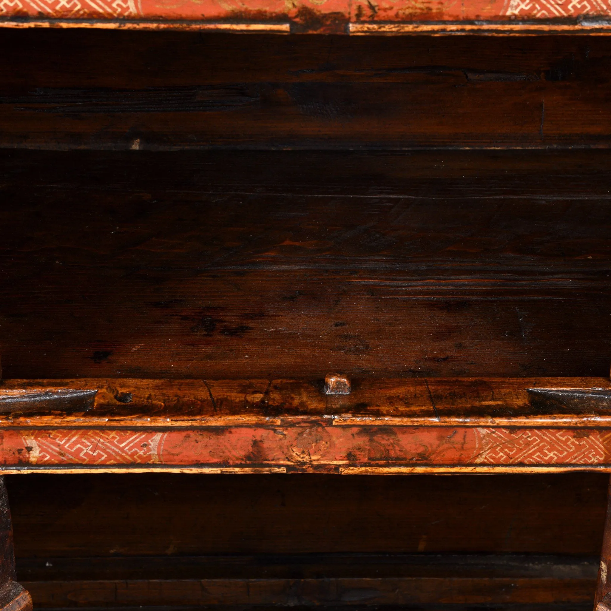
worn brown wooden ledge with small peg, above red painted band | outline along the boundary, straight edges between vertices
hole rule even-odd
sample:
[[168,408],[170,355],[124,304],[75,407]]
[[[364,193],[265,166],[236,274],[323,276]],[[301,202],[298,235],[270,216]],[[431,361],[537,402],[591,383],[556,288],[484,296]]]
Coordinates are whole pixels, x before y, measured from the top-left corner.
[[[570,389],[584,404],[563,404]],[[554,392],[555,391],[555,392]],[[541,397],[552,397],[542,401]],[[609,378],[353,378],[348,395],[327,395],[322,379],[7,379],[0,426],[611,425]]]

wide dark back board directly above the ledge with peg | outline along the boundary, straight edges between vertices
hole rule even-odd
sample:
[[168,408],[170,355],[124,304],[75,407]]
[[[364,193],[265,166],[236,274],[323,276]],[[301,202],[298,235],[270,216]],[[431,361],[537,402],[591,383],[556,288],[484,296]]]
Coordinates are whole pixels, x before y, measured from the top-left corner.
[[5,152],[5,378],[606,376],[606,152]]

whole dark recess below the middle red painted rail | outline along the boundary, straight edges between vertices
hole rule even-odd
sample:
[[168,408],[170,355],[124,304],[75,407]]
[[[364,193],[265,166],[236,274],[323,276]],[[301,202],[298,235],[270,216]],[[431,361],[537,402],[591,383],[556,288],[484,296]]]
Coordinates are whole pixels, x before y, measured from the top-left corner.
[[7,480],[18,577],[40,608],[530,611],[591,605],[607,478]]

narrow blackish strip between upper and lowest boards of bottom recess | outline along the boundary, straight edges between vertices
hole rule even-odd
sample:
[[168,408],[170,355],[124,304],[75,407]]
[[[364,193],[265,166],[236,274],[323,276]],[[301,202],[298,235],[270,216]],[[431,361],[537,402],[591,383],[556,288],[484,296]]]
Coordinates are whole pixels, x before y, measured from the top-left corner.
[[594,584],[599,558],[533,554],[262,554],[20,558],[25,582],[178,579],[577,579]]

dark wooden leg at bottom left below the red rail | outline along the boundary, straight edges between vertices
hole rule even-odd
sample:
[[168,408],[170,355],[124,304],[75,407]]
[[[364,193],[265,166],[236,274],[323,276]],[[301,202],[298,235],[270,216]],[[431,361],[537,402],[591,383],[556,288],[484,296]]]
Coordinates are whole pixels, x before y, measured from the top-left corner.
[[16,578],[9,497],[0,477],[0,611],[32,611],[32,599]]

